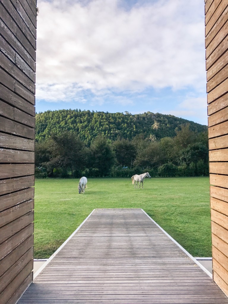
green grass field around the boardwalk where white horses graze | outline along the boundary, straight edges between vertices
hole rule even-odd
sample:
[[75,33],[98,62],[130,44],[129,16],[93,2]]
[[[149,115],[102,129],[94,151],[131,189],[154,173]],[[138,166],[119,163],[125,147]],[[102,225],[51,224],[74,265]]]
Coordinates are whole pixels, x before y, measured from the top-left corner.
[[34,257],[47,258],[95,208],[142,208],[193,256],[211,256],[209,178],[151,178],[134,189],[130,178],[35,182]]

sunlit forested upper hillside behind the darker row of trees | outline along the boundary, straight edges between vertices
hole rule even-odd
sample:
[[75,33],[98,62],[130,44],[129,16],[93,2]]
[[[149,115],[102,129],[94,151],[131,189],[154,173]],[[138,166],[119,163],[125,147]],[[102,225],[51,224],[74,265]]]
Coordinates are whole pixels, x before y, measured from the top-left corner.
[[[129,112],[109,113],[76,110],[46,111],[36,114],[36,139],[41,140],[54,131],[73,130],[78,133],[85,144],[90,144],[92,138],[102,133],[111,140],[128,138],[131,140],[137,134],[144,138],[153,135],[157,140],[162,137],[173,137],[175,130],[181,130],[181,125],[189,124],[189,129],[195,132],[207,130],[207,126],[192,121],[164,115],[145,112],[132,115]],[[154,137],[153,136],[153,137]]]

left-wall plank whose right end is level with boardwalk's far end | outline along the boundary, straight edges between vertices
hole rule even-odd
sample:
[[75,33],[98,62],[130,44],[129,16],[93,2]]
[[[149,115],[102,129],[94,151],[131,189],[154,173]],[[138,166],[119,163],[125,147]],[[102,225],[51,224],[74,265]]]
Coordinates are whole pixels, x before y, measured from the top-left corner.
[[34,199],[29,199],[7,210],[0,212],[0,227],[9,224],[34,209]]

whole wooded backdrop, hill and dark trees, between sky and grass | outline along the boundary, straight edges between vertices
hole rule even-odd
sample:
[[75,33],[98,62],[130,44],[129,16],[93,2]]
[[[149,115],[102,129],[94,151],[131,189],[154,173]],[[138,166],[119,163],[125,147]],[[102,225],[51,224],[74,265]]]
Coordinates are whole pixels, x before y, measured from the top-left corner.
[[208,175],[207,127],[172,115],[36,114],[37,177]]

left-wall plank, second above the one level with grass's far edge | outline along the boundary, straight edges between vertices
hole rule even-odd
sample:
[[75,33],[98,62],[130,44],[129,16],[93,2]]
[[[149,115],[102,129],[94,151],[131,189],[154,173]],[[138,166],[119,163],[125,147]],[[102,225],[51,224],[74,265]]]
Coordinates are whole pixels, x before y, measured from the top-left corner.
[[34,160],[34,152],[0,148],[0,163],[34,163]]

